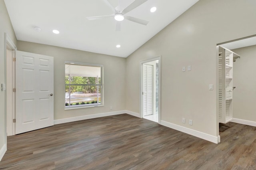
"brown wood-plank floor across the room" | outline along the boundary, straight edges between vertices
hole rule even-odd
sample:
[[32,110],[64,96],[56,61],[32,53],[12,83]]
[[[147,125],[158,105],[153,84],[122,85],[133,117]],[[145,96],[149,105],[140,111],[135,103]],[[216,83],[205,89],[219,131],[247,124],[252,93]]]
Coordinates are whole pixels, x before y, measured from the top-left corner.
[[236,123],[221,143],[127,114],[8,136],[0,169],[255,170],[256,127]]

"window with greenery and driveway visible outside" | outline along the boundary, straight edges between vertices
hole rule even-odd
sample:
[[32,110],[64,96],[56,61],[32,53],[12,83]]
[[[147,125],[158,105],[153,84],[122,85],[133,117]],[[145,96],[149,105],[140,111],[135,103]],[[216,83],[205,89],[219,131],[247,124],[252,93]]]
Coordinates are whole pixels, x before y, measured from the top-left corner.
[[65,61],[65,108],[103,105],[103,65]]

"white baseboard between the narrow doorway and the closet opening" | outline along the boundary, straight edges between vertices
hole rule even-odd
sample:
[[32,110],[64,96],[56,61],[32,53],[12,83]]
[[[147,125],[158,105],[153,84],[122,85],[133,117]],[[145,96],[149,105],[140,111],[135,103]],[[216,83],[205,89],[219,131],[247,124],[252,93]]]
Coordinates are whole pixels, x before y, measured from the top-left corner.
[[203,132],[199,132],[197,130],[193,130],[193,129],[190,129],[190,128],[175,125],[175,124],[172,124],[172,123],[169,123],[169,122],[166,122],[166,121],[161,121],[161,125],[163,125],[165,127],[173,128],[173,129],[178,130],[180,132],[191,134],[193,136],[196,136],[198,138],[202,138],[204,140],[208,140],[208,141],[216,143],[216,144],[218,144],[219,143],[218,141],[220,140],[219,136],[212,136],[210,134],[206,134],[206,133],[203,133]]

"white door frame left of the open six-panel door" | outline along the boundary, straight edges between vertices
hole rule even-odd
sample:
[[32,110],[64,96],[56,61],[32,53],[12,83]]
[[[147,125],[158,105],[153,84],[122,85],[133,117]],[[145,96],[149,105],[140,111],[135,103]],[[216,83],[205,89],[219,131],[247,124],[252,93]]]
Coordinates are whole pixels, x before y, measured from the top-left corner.
[[[15,53],[16,53],[16,50],[17,50],[17,47],[16,45],[12,42],[12,40],[10,39],[10,37],[8,36],[7,33],[4,33],[4,62],[5,62],[5,82],[6,79],[7,79],[7,76],[10,76],[10,75],[7,75],[7,73],[10,73],[12,74],[12,85],[8,85],[6,87],[6,89],[13,89],[15,88],[15,62],[12,62],[12,66],[10,67],[10,65],[8,66],[6,64],[7,62],[7,48],[8,49],[11,49],[12,50],[12,58],[15,58]],[[7,71],[8,70],[8,71]],[[8,103],[7,102],[7,95],[8,97],[10,97],[11,99],[11,103]],[[15,93],[13,92],[8,92],[6,91],[5,93],[5,101],[6,101],[6,105],[5,105],[5,113],[6,113],[6,132],[8,131],[9,134],[8,136],[10,135],[14,135],[15,134],[15,123],[13,123],[13,119],[15,119]],[[12,110],[12,113],[7,113],[7,108],[10,108],[10,110]],[[11,114],[9,116],[9,119],[7,120],[7,114]],[[8,129],[7,129],[7,123],[8,125],[12,125],[12,126],[8,126]]]

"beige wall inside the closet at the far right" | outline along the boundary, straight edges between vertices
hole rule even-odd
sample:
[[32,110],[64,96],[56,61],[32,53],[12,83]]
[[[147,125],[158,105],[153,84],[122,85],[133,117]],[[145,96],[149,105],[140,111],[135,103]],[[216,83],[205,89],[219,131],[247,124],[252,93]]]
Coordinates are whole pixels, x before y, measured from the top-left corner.
[[256,122],[256,45],[232,51],[241,56],[233,63],[233,118]]

